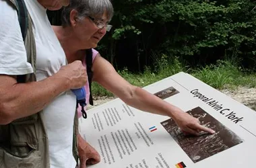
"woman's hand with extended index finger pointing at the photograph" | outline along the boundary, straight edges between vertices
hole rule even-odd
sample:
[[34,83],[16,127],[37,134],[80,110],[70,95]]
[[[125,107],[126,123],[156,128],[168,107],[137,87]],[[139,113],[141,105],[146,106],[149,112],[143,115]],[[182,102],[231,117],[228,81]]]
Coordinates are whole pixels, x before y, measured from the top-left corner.
[[199,120],[197,118],[193,118],[185,112],[177,112],[173,119],[185,134],[199,135],[199,132],[201,131],[208,132],[210,134],[215,133],[214,130],[199,124]]

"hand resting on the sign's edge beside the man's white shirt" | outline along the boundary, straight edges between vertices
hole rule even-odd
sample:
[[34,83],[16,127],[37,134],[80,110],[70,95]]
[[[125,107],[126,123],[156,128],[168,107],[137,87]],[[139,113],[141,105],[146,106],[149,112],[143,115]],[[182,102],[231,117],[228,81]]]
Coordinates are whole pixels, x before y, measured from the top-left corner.
[[80,159],[80,168],[86,168],[86,165],[94,165],[100,162],[100,155],[82,136],[78,135],[78,153]]

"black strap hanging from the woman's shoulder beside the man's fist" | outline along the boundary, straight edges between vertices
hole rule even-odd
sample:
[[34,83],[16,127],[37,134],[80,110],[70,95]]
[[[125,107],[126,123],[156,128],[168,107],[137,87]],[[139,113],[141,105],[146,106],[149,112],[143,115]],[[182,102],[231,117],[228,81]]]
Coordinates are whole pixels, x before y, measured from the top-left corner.
[[87,76],[88,76],[88,82],[89,82],[89,89],[90,89],[90,98],[89,98],[89,103],[90,105],[94,105],[94,101],[92,100],[92,49],[87,49],[86,50],[86,71],[87,71]]

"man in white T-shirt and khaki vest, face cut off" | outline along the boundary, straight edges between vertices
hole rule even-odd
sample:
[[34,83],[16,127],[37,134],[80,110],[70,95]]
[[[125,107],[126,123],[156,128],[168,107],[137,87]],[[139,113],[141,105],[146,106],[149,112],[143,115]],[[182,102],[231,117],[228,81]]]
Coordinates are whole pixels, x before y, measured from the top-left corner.
[[32,46],[26,51],[15,6],[0,0],[0,167],[75,167],[76,97],[70,89],[82,87],[87,75],[79,60],[66,65],[46,15],[69,0],[25,4],[33,23],[26,42],[35,41],[34,64],[27,62]]

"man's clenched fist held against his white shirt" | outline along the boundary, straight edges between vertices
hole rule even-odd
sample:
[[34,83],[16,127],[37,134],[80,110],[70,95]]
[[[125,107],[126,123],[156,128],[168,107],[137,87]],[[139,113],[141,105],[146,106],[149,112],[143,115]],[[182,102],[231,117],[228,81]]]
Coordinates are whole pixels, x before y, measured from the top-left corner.
[[78,89],[86,84],[88,79],[86,68],[82,65],[80,60],[61,67],[58,73],[54,77],[61,77],[67,79],[69,89]]

